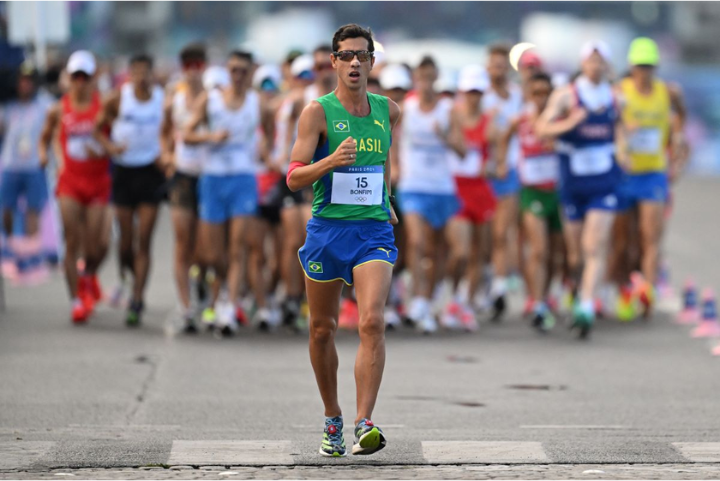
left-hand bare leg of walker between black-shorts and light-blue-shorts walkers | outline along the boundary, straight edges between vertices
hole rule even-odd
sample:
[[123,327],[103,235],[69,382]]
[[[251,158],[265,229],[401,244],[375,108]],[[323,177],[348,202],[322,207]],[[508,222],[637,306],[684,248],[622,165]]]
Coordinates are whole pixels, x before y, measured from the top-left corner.
[[190,209],[173,207],[171,210],[175,232],[175,259],[173,272],[180,302],[185,309],[190,307],[190,266],[195,252],[197,217]]

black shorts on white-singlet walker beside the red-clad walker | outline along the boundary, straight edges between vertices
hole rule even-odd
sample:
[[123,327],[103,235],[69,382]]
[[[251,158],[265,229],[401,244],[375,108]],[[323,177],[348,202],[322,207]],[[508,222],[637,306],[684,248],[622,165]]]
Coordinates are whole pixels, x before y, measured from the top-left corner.
[[155,163],[142,167],[113,166],[113,204],[137,207],[139,204],[159,204],[166,193],[165,175]]

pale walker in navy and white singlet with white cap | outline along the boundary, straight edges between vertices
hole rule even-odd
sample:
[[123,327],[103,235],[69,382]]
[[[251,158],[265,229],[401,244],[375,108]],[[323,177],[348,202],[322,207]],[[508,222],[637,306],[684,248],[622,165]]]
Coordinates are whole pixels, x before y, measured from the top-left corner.
[[[615,158],[619,113],[606,79],[610,49],[590,42],[582,49],[582,75],[557,90],[541,115],[537,134],[558,139],[560,202],[568,263],[578,274],[574,326],[585,337],[593,324],[594,299],[606,263],[621,171]],[[582,277],[578,272],[582,267]]]

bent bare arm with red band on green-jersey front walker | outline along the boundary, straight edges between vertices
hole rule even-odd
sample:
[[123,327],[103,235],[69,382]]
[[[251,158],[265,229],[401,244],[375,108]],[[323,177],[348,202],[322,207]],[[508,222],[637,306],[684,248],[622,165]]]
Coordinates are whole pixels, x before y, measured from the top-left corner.
[[294,169],[288,176],[288,187],[293,192],[312,185],[336,167],[345,167],[355,163],[357,142],[352,137],[345,139],[335,152],[324,159],[313,164],[310,163],[315,150],[327,137],[326,130],[325,110],[318,102],[310,102],[300,115],[297,140],[292,154],[290,154],[292,162],[306,164]]

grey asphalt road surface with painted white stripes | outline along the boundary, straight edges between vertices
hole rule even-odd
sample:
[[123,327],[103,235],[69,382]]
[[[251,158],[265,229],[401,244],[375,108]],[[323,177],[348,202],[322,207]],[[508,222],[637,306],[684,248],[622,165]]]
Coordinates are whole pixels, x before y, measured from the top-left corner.
[[[719,188],[686,179],[676,189],[665,250],[678,288],[691,275],[720,289]],[[153,250],[140,329],[106,306],[72,326],[59,274],[8,290],[0,477],[720,476],[718,340],[691,339],[671,301],[650,323],[600,322],[589,342],[560,326],[539,336],[517,312],[472,335],[389,333],[374,414],[388,447],[328,460],[317,454],[323,410],[306,335],[174,335],[167,212]],[[338,336],[347,442],[357,343]]]

